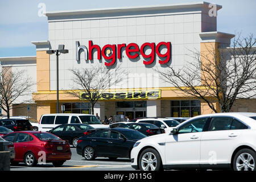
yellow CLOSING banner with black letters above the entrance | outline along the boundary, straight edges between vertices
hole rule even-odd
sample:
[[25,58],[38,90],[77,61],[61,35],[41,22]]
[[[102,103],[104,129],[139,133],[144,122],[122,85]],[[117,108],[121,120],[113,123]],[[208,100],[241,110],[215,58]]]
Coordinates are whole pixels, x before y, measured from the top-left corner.
[[[93,96],[92,96],[93,97]],[[80,92],[80,100],[89,100],[88,93]],[[161,90],[141,90],[127,92],[105,92],[101,94],[100,100],[137,100],[161,98]]]

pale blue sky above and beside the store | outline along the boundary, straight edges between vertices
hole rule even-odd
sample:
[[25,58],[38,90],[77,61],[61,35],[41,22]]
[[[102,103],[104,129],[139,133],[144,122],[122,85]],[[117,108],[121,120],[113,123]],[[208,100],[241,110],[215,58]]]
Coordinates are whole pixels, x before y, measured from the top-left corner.
[[[125,7],[164,5],[172,3],[200,2],[196,0],[0,0],[0,57],[33,56],[35,46],[31,41],[48,40],[47,18],[39,16],[39,4],[46,5],[46,11],[95,9],[104,7]],[[256,35],[256,1],[226,0],[207,1],[222,5],[218,11],[217,30],[230,34],[242,32]]]

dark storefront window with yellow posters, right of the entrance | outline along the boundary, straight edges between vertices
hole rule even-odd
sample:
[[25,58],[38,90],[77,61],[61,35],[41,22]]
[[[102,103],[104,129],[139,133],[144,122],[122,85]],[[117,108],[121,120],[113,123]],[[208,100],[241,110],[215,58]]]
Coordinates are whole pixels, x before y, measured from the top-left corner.
[[171,101],[171,117],[194,117],[201,114],[199,100]]

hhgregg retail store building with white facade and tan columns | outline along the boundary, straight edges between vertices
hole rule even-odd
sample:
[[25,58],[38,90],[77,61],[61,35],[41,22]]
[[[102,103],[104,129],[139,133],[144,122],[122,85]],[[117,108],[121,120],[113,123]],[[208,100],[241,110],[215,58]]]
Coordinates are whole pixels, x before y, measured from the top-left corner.
[[[182,68],[193,61],[191,50],[207,52],[207,46],[229,46],[234,35],[217,31],[217,16],[209,15],[211,8],[209,3],[200,2],[47,12],[48,40],[32,42],[36,46],[36,57],[33,57],[33,70],[29,72],[34,74],[37,82],[32,94],[36,118],[39,120],[42,114],[56,112],[56,56],[48,55],[46,51],[57,49],[59,44],[64,44],[69,50],[69,53],[59,56],[59,110],[61,105],[65,106],[61,112],[90,113],[89,102],[67,93],[73,88],[70,69],[101,64],[112,69],[121,65],[129,73],[128,79],[109,89],[108,93],[133,95],[123,99],[100,100],[94,113],[98,113],[101,119],[105,115],[118,114],[132,119],[192,117],[212,113],[205,102],[188,98],[173,85],[160,80],[155,71],[156,68],[164,71],[166,65],[174,69]],[[217,5],[216,11],[221,8]],[[115,58],[107,55],[107,49]],[[134,56],[132,49],[137,49],[137,56]],[[150,56],[147,58],[146,55]],[[0,61],[2,64],[3,60]],[[13,64],[7,61],[6,58],[6,65]],[[134,96],[150,92],[154,92],[154,99]],[[245,111],[247,106],[237,105],[234,111],[240,111],[240,107]],[[248,107],[246,111],[250,109],[253,108]]]

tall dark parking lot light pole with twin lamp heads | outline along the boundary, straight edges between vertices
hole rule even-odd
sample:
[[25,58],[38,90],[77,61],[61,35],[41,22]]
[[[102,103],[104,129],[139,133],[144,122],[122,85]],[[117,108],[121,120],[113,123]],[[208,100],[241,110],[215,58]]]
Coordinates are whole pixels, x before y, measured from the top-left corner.
[[64,45],[59,45],[59,48],[56,50],[46,51],[49,55],[56,54],[56,90],[57,90],[57,103],[56,103],[56,113],[59,113],[59,55],[60,53],[68,53],[68,49],[64,49]]

